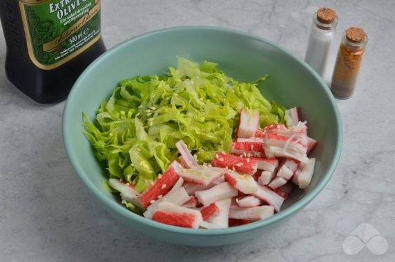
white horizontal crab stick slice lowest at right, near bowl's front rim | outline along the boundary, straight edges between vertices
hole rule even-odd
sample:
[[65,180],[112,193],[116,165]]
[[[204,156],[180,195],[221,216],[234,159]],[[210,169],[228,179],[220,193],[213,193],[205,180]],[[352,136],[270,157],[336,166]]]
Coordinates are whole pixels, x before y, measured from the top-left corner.
[[229,218],[246,219],[249,221],[258,221],[273,216],[274,207],[271,205],[262,205],[260,207],[238,207],[232,205],[229,209]]

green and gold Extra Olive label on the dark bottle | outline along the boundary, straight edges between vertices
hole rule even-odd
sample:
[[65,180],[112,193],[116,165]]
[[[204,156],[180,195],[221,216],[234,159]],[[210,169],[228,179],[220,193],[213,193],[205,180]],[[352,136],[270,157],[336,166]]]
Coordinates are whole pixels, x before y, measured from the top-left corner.
[[100,0],[19,0],[28,52],[41,69],[70,61],[100,39]]

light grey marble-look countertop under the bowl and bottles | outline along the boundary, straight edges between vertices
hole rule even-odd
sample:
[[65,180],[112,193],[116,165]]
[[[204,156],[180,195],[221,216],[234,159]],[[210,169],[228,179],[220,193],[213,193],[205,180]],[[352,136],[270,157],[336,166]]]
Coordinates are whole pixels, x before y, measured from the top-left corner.
[[[304,57],[311,16],[323,6],[340,17],[331,66],[345,28],[359,26],[369,35],[356,93],[337,101],[344,123],[342,157],[307,208],[278,232],[238,245],[171,245],[115,221],[68,162],[61,138],[64,102],[33,102],[8,82],[1,66],[0,261],[395,261],[394,1],[112,0],[102,2],[102,30],[110,48],[159,28],[224,26]],[[0,32],[0,64],[5,57]],[[375,242],[369,236],[369,248],[346,254],[358,246],[349,236],[361,223],[369,225],[357,230],[361,239],[372,232],[380,237]]]

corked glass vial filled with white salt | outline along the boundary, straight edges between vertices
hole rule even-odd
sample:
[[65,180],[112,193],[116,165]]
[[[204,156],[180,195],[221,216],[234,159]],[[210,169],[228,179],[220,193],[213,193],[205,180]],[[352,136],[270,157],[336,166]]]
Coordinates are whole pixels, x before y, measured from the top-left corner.
[[327,59],[334,40],[338,17],[331,8],[320,8],[313,16],[305,62],[325,78]]

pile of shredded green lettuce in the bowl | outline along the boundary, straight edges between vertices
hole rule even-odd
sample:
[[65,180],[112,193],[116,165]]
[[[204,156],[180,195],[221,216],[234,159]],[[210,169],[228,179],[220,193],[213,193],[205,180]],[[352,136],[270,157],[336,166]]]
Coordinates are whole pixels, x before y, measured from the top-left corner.
[[284,123],[285,107],[268,102],[257,88],[265,79],[239,83],[218,64],[179,58],[164,76],[122,80],[94,122],[83,113],[84,133],[109,178],[144,191],[177,158],[180,139],[200,163],[229,152],[242,107],[260,111],[261,127]]

